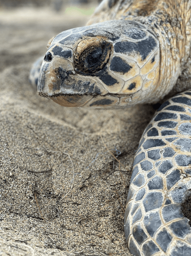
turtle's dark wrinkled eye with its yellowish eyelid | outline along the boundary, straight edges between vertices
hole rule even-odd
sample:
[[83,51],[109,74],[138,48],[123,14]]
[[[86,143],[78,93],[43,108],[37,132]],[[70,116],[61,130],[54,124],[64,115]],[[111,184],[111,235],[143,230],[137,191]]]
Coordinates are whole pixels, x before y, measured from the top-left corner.
[[86,42],[82,41],[75,53],[74,65],[76,71],[90,74],[101,70],[109,60],[111,47],[111,44],[98,40],[93,42],[91,39],[87,39]]

